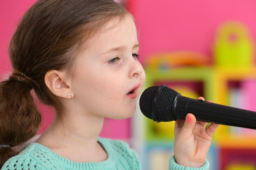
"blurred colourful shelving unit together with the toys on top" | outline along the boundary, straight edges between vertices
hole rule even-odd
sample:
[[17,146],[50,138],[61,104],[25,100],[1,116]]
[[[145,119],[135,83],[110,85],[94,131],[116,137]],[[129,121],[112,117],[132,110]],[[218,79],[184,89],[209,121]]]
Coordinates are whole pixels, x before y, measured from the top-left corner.
[[[216,30],[213,61],[209,61],[209,56],[189,51],[147,56],[145,89],[165,84],[187,97],[203,96],[217,104],[256,111],[254,46],[246,25],[237,21],[224,22]],[[143,120],[146,154],[153,154],[160,146],[173,146],[174,122]],[[156,159],[161,157],[161,151],[166,155],[164,150],[158,149]],[[220,125],[207,159],[210,170],[256,170],[256,130]],[[154,162],[152,157],[151,162]],[[160,170],[154,166],[147,168]]]

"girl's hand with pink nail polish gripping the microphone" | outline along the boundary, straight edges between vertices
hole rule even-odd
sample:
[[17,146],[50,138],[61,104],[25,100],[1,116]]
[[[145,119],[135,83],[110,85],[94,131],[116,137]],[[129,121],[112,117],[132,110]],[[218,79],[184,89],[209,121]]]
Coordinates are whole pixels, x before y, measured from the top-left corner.
[[[204,100],[203,97],[198,99]],[[211,146],[213,133],[218,124],[196,121],[193,114],[186,115],[186,119],[175,122],[174,128],[174,156],[177,164],[189,167],[204,165],[207,152]]]

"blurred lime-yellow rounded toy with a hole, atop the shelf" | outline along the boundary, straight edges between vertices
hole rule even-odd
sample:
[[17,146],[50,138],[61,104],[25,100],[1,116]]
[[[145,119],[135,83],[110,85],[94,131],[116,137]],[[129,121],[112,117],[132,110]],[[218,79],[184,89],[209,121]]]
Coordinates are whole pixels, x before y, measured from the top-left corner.
[[227,21],[216,32],[213,56],[218,67],[252,67],[254,43],[245,24]]

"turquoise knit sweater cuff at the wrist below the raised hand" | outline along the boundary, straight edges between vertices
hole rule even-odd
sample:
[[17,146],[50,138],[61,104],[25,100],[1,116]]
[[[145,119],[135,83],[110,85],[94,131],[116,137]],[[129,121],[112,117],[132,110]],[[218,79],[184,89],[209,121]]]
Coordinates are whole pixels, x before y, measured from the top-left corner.
[[181,166],[175,162],[174,156],[169,161],[169,170],[209,170],[209,161],[206,159],[203,166],[198,168],[191,168],[188,166]]

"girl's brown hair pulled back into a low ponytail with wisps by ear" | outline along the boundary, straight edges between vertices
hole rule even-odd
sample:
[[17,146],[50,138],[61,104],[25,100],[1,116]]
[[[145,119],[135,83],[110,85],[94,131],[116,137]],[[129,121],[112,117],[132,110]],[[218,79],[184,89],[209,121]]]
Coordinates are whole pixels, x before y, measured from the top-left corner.
[[[45,74],[65,69],[72,73],[81,42],[127,14],[113,0],[39,0],[25,13],[9,46],[13,73],[0,82],[0,145],[18,146],[36,135],[41,116],[32,89],[41,102],[61,113],[63,106],[45,85]],[[16,154],[0,147],[0,168]]]

